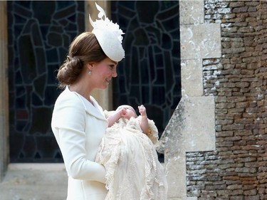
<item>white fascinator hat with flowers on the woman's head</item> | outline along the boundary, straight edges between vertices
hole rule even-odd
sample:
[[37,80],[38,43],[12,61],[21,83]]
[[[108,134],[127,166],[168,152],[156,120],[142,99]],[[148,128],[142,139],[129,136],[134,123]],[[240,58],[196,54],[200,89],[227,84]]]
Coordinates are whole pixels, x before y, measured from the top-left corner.
[[[122,48],[122,30],[117,23],[112,23],[105,16],[105,11],[95,3],[99,11],[98,18],[95,21],[91,19],[89,14],[90,24],[93,26],[92,33],[98,39],[98,43],[103,49],[105,55],[111,60],[119,62],[125,57],[125,51]],[[104,19],[103,19],[104,18]]]

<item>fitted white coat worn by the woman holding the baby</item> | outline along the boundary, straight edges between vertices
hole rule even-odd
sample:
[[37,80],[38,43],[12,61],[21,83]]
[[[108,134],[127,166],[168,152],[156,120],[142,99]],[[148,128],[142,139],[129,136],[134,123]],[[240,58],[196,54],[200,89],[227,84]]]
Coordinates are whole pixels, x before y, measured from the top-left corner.
[[95,161],[108,120],[93,97],[93,105],[68,87],[58,96],[51,127],[68,173],[67,200],[103,200],[105,167]]

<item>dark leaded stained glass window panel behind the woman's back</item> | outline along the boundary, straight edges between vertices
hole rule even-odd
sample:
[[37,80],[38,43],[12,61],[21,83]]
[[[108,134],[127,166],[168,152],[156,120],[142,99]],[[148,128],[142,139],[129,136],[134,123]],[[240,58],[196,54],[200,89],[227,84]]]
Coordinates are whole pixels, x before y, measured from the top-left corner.
[[84,1],[7,1],[11,162],[62,162],[51,131],[56,69],[85,30]]

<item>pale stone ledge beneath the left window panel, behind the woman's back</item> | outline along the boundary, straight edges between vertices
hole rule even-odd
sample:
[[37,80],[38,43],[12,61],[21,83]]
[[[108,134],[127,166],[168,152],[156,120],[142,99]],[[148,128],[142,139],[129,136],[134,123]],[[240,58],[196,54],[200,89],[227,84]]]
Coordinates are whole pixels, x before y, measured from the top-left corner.
[[9,164],[0,183],[0,200],[66,200],[63,164]]

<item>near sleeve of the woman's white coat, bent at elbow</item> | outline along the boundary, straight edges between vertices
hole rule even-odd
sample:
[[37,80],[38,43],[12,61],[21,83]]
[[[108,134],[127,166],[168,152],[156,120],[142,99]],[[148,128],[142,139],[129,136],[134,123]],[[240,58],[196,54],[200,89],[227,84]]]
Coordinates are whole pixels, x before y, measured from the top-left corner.
[[59,101],[52,117],[53,132],[63,154],[68,176],[105,183],[105,167],[86,158],[85,108],[78,97]]

